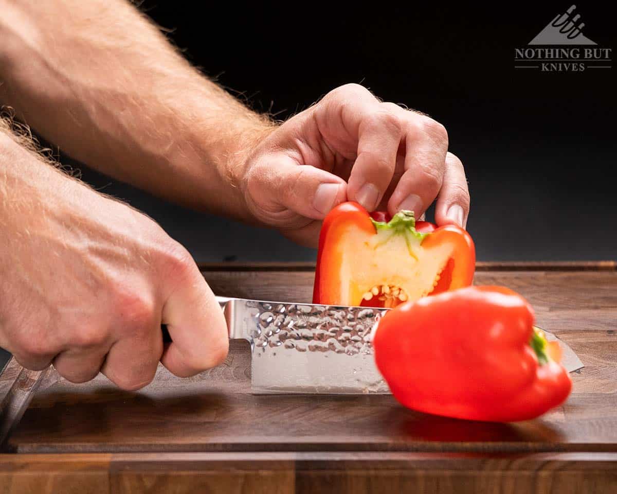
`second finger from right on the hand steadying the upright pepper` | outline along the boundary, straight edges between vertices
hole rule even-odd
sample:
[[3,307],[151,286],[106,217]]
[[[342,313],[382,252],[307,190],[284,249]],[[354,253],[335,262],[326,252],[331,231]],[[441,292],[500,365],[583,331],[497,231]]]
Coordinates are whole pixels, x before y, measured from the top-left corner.
[[395,214],[407,209],[420,217],[441,190],[448,149],[447,132],[443,125],[429,117],[404,109],[400,111],[406,114],[405,172],[388,201],[388,211]]

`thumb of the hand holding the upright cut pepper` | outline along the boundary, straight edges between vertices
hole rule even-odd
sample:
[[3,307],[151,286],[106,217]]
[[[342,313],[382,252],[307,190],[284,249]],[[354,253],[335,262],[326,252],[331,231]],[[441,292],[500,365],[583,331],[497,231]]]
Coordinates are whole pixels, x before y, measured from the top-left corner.
[[323,219],[347,198],[342,178],[311,165],[299,165],[283,153],[264,156],[254,164],[247,188],[249,200],[259,201],[255,205],[269,215],[266,220],[273,226],[289,227],[294,214],[304,224],[306,218]]

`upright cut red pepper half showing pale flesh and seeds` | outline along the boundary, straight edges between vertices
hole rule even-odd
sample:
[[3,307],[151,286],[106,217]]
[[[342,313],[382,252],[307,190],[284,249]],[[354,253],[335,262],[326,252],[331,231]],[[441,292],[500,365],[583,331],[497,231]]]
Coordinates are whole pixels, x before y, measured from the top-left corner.
[[416,222],[343,203],[323,222],[313,303],[395,307],[407,300],[471,285],[476,253],[454,225]]

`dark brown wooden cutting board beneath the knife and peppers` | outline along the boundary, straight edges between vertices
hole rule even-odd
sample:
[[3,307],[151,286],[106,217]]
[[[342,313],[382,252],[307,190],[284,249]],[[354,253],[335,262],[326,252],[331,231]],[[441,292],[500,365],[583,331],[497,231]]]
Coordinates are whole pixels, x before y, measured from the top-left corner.
[[[310,301],[312,269],[203,272],[217,295]],[[220,492],[617,491],[615,263],[479,264],[475,283],[519,291],[537,323],[581,358],[563,406],[536,421],[486,424],[413,412],[388,395],[256,396],[249,346],[234,341],[222,366],[191,379],[160,367],[135,393],[102,376],[73,385],[50,372],[10,438],[12,454],[0,455],[0,493],[2,482],[35,477],[63,492],[72,482],[100,492],[171,482],[184,492],[188,478],[187,488]],[[17,372],[10,365],[0,396]]]

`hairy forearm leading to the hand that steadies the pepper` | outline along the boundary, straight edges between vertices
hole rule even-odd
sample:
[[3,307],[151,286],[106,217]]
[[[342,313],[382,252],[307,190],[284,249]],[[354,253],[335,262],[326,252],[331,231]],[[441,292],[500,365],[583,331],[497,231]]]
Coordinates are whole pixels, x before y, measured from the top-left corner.
[[0,99],[66,153],[179,203],[247,219],[236,179],[271,124],[123,0],[0,0]]

